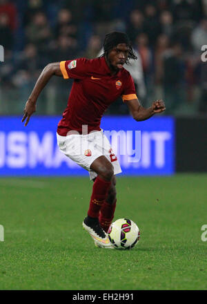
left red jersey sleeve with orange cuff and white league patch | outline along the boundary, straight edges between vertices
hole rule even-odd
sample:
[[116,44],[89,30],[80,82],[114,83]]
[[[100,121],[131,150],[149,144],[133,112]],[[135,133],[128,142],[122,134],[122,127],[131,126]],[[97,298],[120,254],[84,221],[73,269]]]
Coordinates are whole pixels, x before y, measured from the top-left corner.
[[60,62],[60,69],[64,79],[83,79],[88,76],[89,68],[90,62],[86,58]]

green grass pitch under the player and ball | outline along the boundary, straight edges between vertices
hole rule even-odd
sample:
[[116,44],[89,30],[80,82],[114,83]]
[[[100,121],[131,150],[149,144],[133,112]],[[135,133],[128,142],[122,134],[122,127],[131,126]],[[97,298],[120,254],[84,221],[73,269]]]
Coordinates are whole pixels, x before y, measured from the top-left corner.
[[0,289],[207,289],[206,174],[117,177],[115,219],[141,230],[132,250],[83,231],[88,178],[1,178]]

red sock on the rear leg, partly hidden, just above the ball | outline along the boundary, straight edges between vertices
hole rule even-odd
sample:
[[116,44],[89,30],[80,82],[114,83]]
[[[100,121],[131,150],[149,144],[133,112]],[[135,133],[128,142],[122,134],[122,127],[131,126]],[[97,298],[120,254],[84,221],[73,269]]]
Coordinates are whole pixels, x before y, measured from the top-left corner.
[[101,206],[101,211],[99,213],[99,223],[104,231],[108,231],[108,228],[110,227],[110,224],[112,223],[112,219],[114,218],[115,209],[116,209],[116,203],[115,202],[111,204],[108,204],[108,202],[103,202],[103,205]]

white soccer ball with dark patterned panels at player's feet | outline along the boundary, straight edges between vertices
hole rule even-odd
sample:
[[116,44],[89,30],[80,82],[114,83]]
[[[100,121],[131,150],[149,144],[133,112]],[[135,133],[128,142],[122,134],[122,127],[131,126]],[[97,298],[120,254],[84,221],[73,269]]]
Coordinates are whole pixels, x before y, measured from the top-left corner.
[[140,231],[132,220],[119,218],[110,225],[108,238],[117,249],[131,249],[139,242]]

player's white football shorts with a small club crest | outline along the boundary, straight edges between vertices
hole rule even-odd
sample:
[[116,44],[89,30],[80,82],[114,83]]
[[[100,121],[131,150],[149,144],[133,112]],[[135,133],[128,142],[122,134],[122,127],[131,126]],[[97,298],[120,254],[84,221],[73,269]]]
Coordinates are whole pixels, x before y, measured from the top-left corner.
[[61,136],[57,134],[57,144],[60,151],[68,156],[68,158],[89,171],[90,180],[97,177],[97,173],[90,169],[90,165],[101,155],[106,156],[110,160],[115,174],[121,173],[117,156],[112,152],[110,142],[102,130],[87,135],[72,134]]

